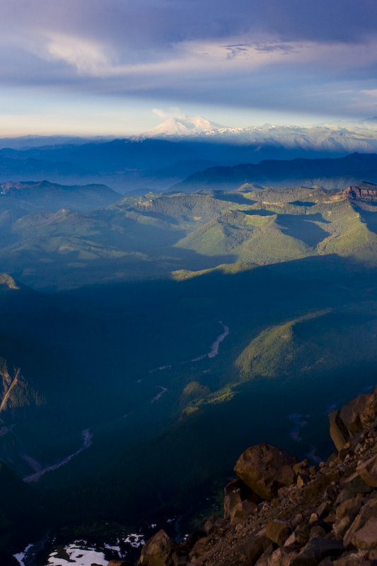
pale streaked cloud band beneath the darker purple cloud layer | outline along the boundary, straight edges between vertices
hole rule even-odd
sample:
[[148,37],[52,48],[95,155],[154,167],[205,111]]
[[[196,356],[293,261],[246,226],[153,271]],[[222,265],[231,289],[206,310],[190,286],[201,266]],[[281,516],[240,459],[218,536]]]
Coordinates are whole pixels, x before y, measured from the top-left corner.
[[[377,40],[286,42],[261,33],[224,40],[183,40],[137,58],[133,50],[116,50],[100,38],[52,32],[26,40],[13,36],[13,59],[0,57],[0,82],[89,96],[138,96],[162,118],[187,113],[173,108],[177,103],[342,115],[366,111],[361,91],[377,88],[371,79],[377,76]],[[334,95],[335,83],[352,93]],[[357,105],[358,99],[364,105]]]

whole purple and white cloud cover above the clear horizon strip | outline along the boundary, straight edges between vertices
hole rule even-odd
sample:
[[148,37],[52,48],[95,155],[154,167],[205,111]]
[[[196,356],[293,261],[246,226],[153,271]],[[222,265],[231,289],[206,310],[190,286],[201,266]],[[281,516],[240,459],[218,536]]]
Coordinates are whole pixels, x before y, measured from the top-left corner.
[[187,102],[348,112],[374,103],[376,16],[375,0],[4,0],[0,87],[139,96],[164,118]]

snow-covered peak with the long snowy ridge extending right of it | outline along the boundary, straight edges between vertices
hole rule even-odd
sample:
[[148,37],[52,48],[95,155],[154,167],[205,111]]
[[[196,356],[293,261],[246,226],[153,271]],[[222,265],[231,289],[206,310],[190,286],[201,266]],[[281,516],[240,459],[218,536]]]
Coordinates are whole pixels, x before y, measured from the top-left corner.
[[373,153],[377,151],[377,120],[337,122],[313,126],[273,126],[230,128],[209,122],[200,116],[169,118],[163,124],[145,132],[138,139],[191,138],[195,141],[255,146],[258,148],[284,148],[303,151],[329,151],[331,153]]

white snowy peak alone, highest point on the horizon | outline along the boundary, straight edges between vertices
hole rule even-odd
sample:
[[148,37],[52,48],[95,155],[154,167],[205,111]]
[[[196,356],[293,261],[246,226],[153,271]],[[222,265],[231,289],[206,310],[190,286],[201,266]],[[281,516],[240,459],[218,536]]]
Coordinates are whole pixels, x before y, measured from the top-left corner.
[[223,127],[215,122],[209,122],[202,116],[171,117],[166,122],[142,134],[142,137],[192,136]]

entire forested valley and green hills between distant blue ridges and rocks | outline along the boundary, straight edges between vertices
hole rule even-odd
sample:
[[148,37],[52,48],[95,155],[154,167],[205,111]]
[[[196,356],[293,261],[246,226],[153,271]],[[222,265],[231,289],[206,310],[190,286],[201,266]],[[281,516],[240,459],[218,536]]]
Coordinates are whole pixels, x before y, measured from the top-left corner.
[[4,190],[2,548],[189,532],[250,444],[330,454],[327,408],[376,381],[370,180]]

